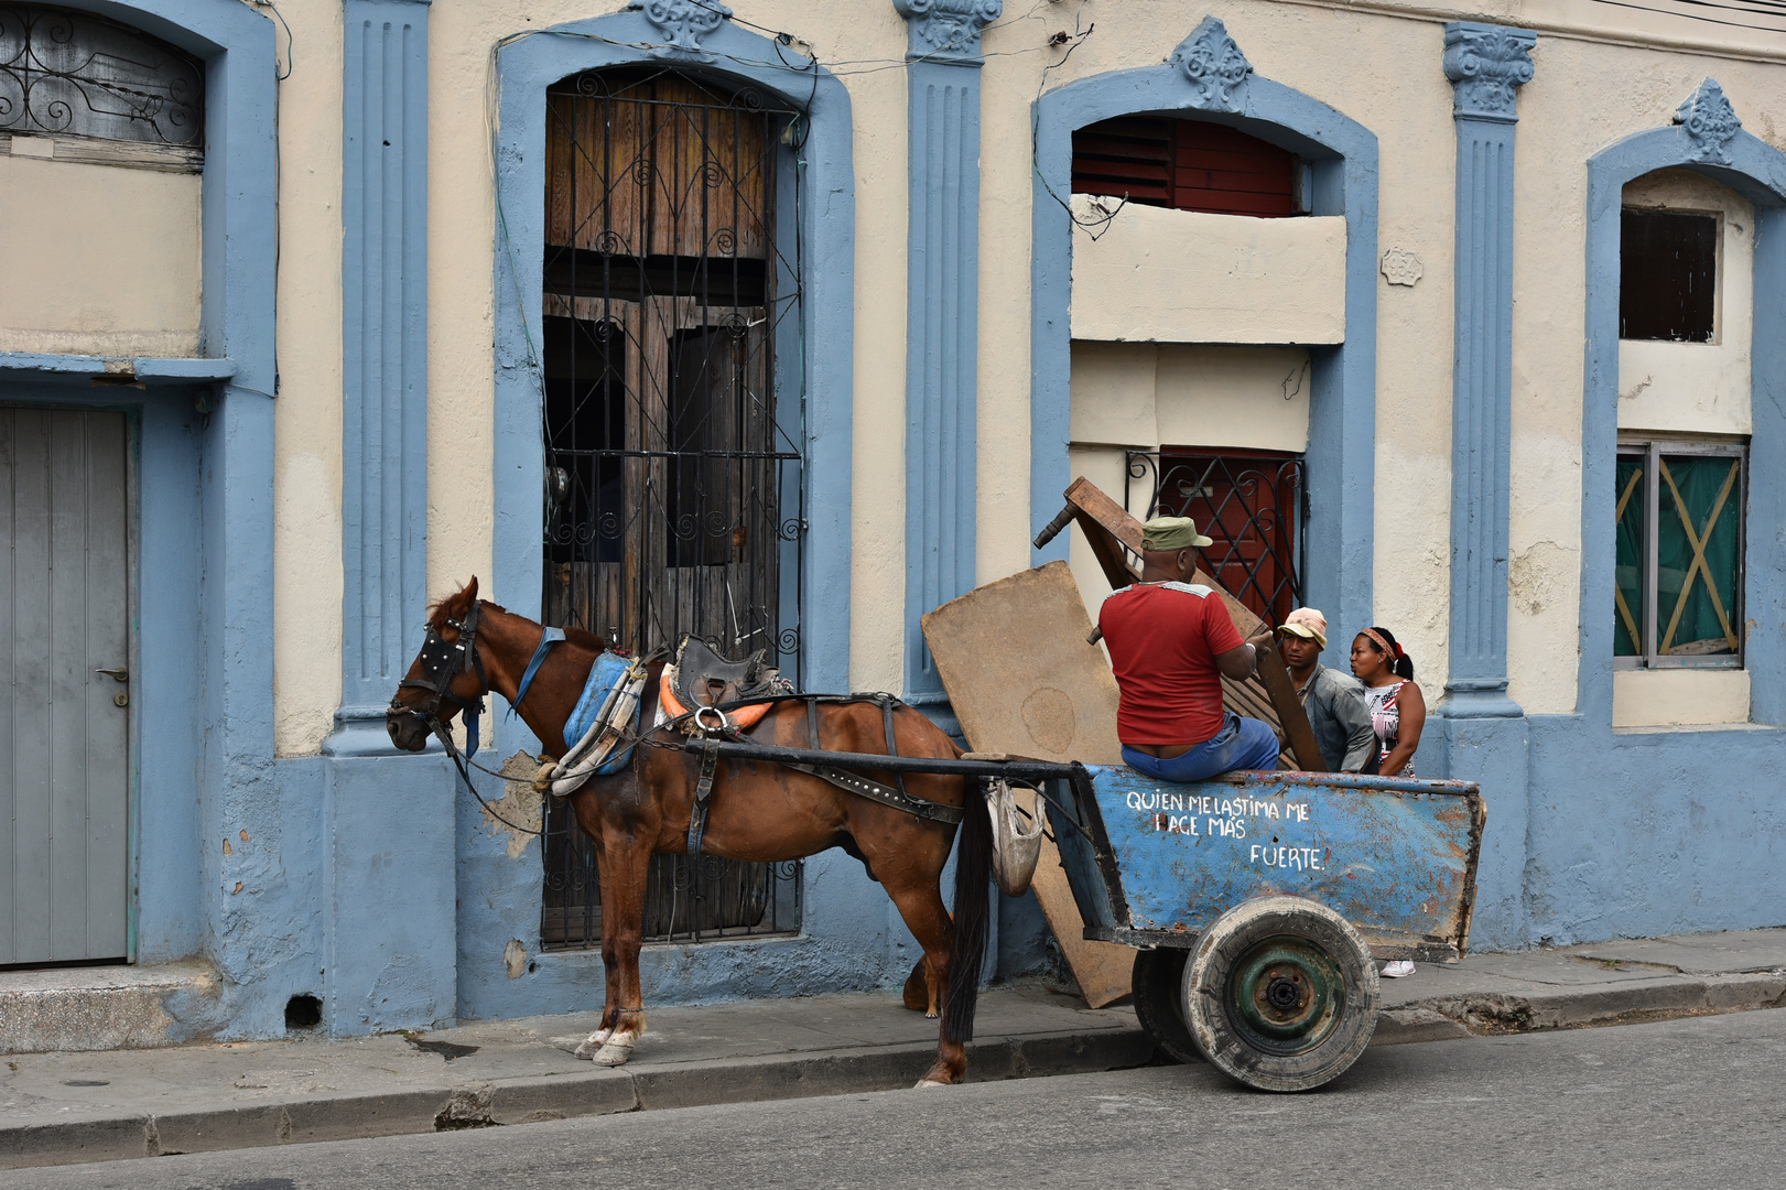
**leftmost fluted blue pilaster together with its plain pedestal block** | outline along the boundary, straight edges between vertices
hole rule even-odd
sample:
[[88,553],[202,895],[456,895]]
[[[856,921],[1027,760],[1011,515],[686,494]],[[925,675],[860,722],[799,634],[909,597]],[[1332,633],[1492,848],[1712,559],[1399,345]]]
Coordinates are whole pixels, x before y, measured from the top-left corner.
[[427,0],[346,0],[341,154],[341,709],[323,745],[323,1015],[457,1013],[454,777],[384,706],[427,600]]

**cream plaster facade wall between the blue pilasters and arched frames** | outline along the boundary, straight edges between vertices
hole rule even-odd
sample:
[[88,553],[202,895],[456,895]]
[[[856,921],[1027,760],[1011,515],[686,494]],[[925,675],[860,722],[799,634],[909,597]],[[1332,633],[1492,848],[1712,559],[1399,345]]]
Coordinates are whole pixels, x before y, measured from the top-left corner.
[[[600,9],[614,9],[611,0]],[[904,618],[906,27],[882,0],[732,0],[739,20],[811,39],[854,100],[855,475],[852,674],[898,688]],[[286,0],[298,70],[282,84],[275,636],[279,747],[314,750],[339,699],[339,77],[334,0]],[[1579,586],[1582,377],[1582,163],[1661,127],[1707,75],[1757,136],[1781,143],[1786,36],[1711,30],[1591,0],[1493,0],[1418,13],[1327,0],[1059,0],[1007,4],[986,34],[981,154],[979,529],[981,581],[1029,565],[1031,104],[1038,91],[1157,64],[1204,16],[1227,21],[1259,75],[1307,91],[1381,145],[1379,250],[1413,252],[1418,284],[1379,279],[1375,618],[1445,679],[1450,534],[1452,170],[1441,21],[1529,20],[1545,32],[1522,93],[1515,284],[1515,493],[1511,672],[1531,711],[1570,709]],[[489,581],[493,450],[491,291],[497,204],[489,168],[489,66],[497,39],[591,16],[582,0],[439,4],[430,13],[429,388],[430,590]],[[841,14],[841,16],[839,16]],[[847,18],[847,20],[845,20]],[[1072,54],[1056,32],[1093,29]],[[1622,29],[1622,43],[1602,32]],[[1707,52],[1657,52],[1656,38]],[[1648,39],[1648,41],[1647,41]],[[845,64],[848,63],[848,64]],[[1431,68],[1409,68],[1431,64]],[[1620,86],[1607,86],[1618,79]],[[504,202],[538,197],[504,197]],[[822,348],[816,347],[816,350]],[[1077,365],[1077,359],[1075,359]],[[1156,386],[1163,373],[1154,361]],[[1306,413],[1304,425],[1306,425]],[[1156,409],[1156,432],[1159,411]],[[1075,431],[1077,434],[1077,431]],[[1150,440],[1152,441],[1157,440]],[[1102,457],[1102,463],[1097,463]],[[470,461],[470,465],[468,465]],[[1075,466],[1109,457],[1073,452]],[[1120,488],[1120,454],[1116,456]],[[1075,554],[1077,559],[1077,554]],[[500,591],[489,591],[500,599]],[[305,611],[305,608],[309,611]],[[321,647],[318,647],[321,641]],[[1431,693],[1429,693],[1431,697]]]

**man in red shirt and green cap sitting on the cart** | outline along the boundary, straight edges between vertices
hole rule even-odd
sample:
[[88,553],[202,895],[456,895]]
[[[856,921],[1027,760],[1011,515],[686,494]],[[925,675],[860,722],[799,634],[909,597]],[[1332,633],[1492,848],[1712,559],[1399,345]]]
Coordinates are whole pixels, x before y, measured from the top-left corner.
[[1189,582],[1197,547],[1188,516],[1143,527],[1141,581],[1098,609],[1122,702],[1123,763],[1161,781],[1204,781],[1232,768],[1277,768],[1277,733],[1222,708],[1222,677],[1252,677],[1272,634],[1241,640],[1222,595]]

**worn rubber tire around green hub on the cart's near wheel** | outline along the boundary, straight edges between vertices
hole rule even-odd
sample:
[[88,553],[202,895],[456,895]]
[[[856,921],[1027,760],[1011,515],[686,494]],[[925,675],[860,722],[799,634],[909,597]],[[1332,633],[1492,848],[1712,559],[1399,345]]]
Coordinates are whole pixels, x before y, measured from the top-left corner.
[[[1254,1045],[1231,1020],[1234,963],[1259,942],[1289,936],[1320,949],[1340,972],[1341,1004],[1325,1038],[1300,1054]],[[1236,1083],[1268,1092],[1304,1092],[1345,1074],[1377,1031],[1377,963],[1352,924],[1307,897],[1259,897],[1223,913],[1184,967],[1184,1018],[1207,1061]]]

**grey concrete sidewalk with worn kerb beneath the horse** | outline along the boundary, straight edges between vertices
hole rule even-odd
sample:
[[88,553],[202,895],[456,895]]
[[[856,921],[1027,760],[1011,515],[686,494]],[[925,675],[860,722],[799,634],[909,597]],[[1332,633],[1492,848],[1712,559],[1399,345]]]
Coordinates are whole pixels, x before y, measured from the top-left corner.
[[[1382,990],[1377,1045],[1781,1008],[1786,929],[1481,954]],[[0,1169],[888,1090],[911,1086],[936,1051],[936,1022],[897,992],[652,1010],[618,1070],[570,1054],[597,1018],[20,1054],[0,1072]],[[988,992],[977,1033],[972,1079],[1154,1056],[1131,1010],[1039,988]]]

